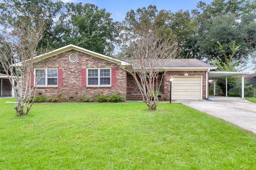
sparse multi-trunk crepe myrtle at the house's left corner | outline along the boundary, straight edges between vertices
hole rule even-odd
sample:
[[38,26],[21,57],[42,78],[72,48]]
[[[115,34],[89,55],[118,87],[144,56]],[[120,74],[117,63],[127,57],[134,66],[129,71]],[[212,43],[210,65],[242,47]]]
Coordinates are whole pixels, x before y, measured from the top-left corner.
[[34,98],[36,90],[36,86],[31,87],[30,84],[34,76],[33,57],[43,37],[44,18],[13,21],[3,27],[0,31],[0,62],[14,89],[17,115],[27,115],[33,105],[30,99]]

